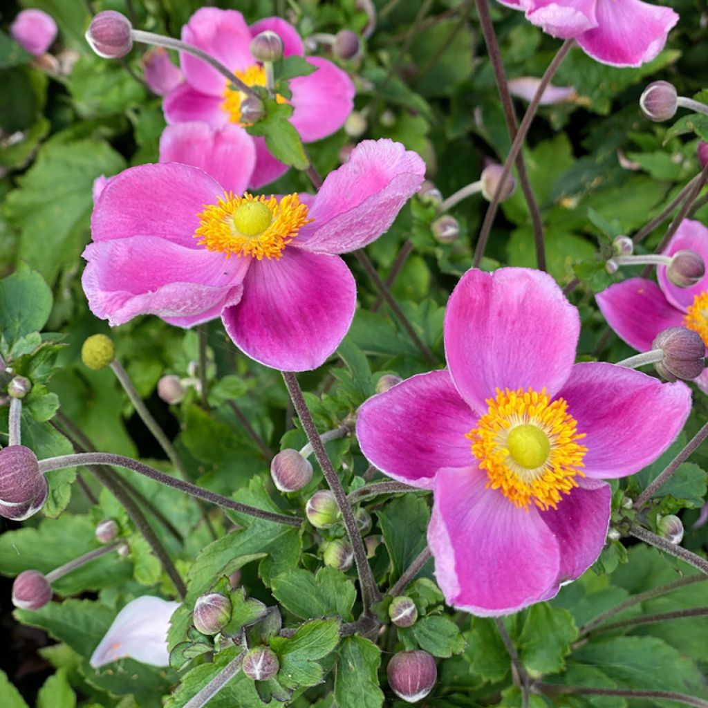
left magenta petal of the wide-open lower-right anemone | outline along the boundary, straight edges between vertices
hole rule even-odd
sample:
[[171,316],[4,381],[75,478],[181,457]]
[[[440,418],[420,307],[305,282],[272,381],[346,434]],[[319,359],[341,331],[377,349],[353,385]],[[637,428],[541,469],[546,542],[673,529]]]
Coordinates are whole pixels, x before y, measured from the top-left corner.
[[431,489],[440,467],[467,467],[464,436],[476,423],[447,370],[396,384],[359,409],[357,438],[365,457],[389,477]]

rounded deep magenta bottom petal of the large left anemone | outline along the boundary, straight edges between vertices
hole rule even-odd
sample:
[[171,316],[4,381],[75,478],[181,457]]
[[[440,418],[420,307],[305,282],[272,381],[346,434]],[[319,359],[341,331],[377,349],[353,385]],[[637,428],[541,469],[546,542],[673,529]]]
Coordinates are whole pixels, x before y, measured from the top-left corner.
[[347,333],[356,285],[346,263],[286,248],[279,261],[253,261],[244,295],[222,314],[237,347],[251,359],[285,371],[324,364]]

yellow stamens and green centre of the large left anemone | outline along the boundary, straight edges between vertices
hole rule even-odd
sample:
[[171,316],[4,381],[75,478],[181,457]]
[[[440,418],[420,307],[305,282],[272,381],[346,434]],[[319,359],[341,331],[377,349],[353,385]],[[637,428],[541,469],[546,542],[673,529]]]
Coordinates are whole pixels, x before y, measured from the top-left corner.
[[307,218],[307,205],[297,194],[278,201],[275,197],[243,197],[225,192],[216,204],[205,204],[198,214],[199,228],[194,236],[207,251],[221,251],[231,256],[280,258],[285,246],[299,229],[314,219]]

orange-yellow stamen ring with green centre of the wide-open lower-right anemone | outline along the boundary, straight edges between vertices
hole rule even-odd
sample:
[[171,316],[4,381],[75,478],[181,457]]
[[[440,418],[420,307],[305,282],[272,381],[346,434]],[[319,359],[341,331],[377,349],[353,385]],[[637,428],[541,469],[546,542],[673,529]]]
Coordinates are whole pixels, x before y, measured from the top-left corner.
[[487,486],[517,507],[528,509],[533,502],[542,510],[556,508],[578,486],[576,476],[584,476],[578,467],[588,452],[578,445],[585,434],[577,432],[568,404],[551,401],[546,389],[497,389],[486,403],[489,412],[467,438],[489,477]]

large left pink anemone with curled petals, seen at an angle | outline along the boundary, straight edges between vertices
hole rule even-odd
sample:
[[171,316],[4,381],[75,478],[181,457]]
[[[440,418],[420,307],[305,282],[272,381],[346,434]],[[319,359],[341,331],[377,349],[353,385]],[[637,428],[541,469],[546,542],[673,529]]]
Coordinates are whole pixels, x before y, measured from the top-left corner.
[[384,233],[424,172],[389,139],[358,144],[314,197],[240,196],[178,163],[127,169],[93,208],[82,278],[91,312],[112,326],[156,314],[190,327],[220,314],[251,358],[314,369],[354,316],[354,278],[336,254]]

